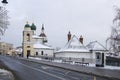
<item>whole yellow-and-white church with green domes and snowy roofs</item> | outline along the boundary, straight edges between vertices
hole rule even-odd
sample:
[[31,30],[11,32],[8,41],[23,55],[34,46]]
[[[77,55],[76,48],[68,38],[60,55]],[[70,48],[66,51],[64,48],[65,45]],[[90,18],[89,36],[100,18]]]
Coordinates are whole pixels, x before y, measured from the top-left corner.
[[27,56],[44,56],[53,57],[54,49],[47,45],[47,36],[44,33],[44,25],[42,25],[40,35],[36,35],[36,26],[34,23],[25,25],[23,30],[23,57]]

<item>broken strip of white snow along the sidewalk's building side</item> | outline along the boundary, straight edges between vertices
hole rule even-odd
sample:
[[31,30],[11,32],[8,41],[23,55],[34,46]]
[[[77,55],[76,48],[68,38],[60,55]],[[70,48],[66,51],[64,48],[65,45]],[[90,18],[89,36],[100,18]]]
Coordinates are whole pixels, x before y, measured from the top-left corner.
[[[37,57],[29,57],[30,59],[35,59],[35,60],[45,60],[45,59],[42,59],[42,58],[37,58]],[[45,61],[51,61],[51,60],[45,60]],[[52,62],[56,62],[56,63],[63,63],[62,60],[52,60]],[[65,63],[65,62],[64,62]],[[69,63],[71,65],[82,65],[82,64],[75,64],[74,62],[66,62],[66,63]],[[89,65],[85,65],[85,66],[88,66],[88,67],[95,67],[95,64],[89,64]],[[111,69],[111,70],[120,70],[120,67],[119,66],[108,66],[108,65],[105,65],[104,67],[98,67],[98,68],[102,68],[102,69]]]

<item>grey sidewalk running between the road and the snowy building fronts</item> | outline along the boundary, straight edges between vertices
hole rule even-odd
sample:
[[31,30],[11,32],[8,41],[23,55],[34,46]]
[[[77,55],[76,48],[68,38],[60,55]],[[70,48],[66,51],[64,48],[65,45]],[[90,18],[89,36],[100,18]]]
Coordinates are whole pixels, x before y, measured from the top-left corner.
[[36,60],[36,59],[25,59],[28,61],[37,62],[40,64],[45,64],[53,67],[63,68],[67,70],[72,70],[80,73],[90,74],[94,76],[100,76],[100,77],[107,77],[113,80],[120,80],[120,70],[111,70],[111,69],[105,69],[100,67],[89,67],[89,66],[81,66],[81,65],[72,65],[67,63],[56,63],[56,62],[50,62],[50,61],[44,61],[44,60]]

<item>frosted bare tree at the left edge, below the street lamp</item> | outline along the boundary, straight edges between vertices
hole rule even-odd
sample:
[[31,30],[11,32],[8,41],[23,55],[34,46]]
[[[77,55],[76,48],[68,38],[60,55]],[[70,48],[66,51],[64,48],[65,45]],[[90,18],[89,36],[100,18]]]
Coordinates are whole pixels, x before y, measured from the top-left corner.
[[0,35],[3,35],[5,30],[8,28],[8,18],[8,11],[5,7],[0,6]]

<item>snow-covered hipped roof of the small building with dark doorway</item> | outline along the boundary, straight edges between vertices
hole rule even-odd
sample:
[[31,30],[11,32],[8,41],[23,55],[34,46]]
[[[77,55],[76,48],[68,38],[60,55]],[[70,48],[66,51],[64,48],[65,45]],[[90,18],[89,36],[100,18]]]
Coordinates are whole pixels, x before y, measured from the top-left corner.
[[102,44],[100,44],[98,41],[90,42],[86,46],[89,50],[107,50]]

